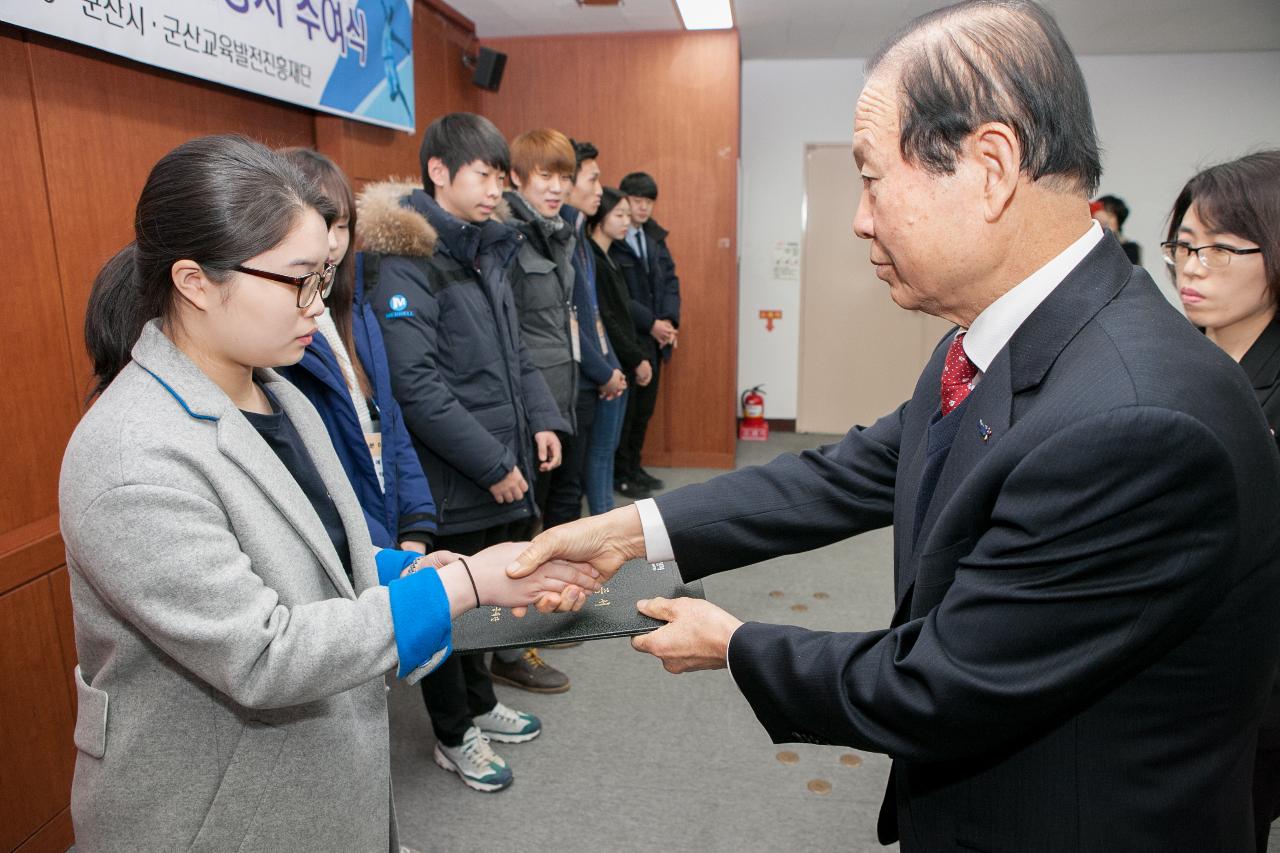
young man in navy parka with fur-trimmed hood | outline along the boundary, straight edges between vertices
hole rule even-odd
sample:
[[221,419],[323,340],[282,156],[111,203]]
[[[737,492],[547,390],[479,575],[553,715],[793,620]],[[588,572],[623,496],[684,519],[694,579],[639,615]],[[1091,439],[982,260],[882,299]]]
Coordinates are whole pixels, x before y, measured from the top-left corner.
[[[392,391],[431,493],[436,547],[475,553],[538,512],[529,484],[559,457],[561,418],[516,325],[507,270],[520,236],[492,219],[507,142],[485,118],[436,119],[420,151],[424,186],[361,193],[364,273],[387,343]],[[511,784],[489,740],[520,743],[541,724],[499,703],[483,654],[454,654],[422,679],[435,761],[476,790]]]

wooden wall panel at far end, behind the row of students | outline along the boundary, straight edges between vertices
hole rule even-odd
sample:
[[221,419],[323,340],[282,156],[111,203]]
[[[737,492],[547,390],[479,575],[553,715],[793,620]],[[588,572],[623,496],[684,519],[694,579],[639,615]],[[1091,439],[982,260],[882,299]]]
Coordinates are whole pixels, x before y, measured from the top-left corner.
[[502,90],[481,111],[509,137],[554,127],[600,149],[607,184],[658,181],[654,218],[681,282],[681,342],[645,442],[650,465],[733,465],[737,392],[736,32],[493,38]]

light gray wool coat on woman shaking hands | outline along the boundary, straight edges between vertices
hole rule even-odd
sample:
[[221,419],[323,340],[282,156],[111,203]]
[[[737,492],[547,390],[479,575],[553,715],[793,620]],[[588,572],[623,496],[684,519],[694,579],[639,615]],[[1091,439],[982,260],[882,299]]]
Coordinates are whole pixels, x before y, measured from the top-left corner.
[[311,403],[297,426],[351,542],[148,324],[59,484],[76,617],[77,850],[397,849],[383,676],[398,662],[364,515]]

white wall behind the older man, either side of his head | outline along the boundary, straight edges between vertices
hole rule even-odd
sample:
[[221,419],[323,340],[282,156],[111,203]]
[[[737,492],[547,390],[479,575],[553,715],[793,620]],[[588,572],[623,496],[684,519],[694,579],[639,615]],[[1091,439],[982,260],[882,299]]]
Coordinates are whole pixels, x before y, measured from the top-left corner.
[[[1158,243],[1187,178],[1280,147],[1280,51],[1082,56],[1080,67],[1102,142],[1101,192],[1129,204],[1125,233],[1167,287]],[[800,318],[800,284],[773,279],[773,247],[801,240],[805,146],[849,143],[861,83],[860,59],[742,63],[737,384],[765,383],[769,418],[796,416]],[[773,332],[762,309],[782,310]]]

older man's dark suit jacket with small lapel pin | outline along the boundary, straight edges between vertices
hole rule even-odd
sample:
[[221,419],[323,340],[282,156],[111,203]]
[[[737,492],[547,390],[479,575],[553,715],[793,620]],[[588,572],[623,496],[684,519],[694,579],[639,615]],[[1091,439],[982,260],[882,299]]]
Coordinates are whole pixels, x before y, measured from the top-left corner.
[[756,717],[892,756],[905,853],[1249,850],[1280,456],[1244,374],[1108,237],[954,415],[913,537],[945,350],[838,444],[658,498],[687,580],[893,523],[891,628],[733,635]]

